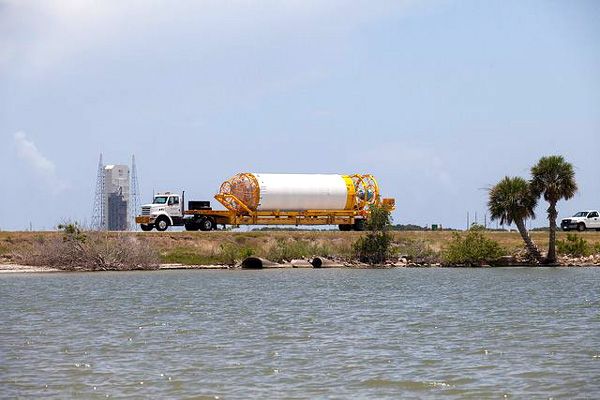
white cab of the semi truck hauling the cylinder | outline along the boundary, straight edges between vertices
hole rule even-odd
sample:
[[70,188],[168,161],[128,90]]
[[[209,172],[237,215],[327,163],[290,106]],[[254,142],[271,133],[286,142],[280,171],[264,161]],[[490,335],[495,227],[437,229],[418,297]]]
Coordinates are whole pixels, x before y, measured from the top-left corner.
[[142,206],[142,215],[138,217],[143,231],[165,231],[169,226],[183,225],[183,196],[177,193],[162,192],[154,195],[151,204]]

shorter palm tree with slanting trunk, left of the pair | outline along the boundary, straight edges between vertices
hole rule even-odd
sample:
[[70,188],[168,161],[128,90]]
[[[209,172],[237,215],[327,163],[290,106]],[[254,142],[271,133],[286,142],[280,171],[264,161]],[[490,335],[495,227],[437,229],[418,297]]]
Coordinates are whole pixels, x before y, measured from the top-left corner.
[[520,177],[504,177],[490,189],[488,209],[492,220],[500,220],[501,224],[517,226],[529,255],[538,262],[543,260],[525,227],[527,218],[535,218],[534,209],[537,198],[531,192],[529,183]]

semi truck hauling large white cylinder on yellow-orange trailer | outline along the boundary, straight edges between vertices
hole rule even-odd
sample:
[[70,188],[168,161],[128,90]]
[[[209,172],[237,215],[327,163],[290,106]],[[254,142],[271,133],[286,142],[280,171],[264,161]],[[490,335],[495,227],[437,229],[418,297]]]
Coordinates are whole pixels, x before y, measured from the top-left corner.
[[185,209],[185,192],[157,193],[135,220],[143,231],[170,226],[210,231],[219,225],[338,225],[362,231],[371,206],[395,208],[393,198],[381,198],[370,174],[243,172],[223,182],[214,198],[224,210],[213,210],[210,201],[189,201]]

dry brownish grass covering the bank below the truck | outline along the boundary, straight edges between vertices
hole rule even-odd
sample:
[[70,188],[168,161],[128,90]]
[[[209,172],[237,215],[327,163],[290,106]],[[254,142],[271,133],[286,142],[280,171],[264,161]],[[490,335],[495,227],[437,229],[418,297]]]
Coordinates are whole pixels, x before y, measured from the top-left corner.
[[[412,241],[427,245],[434,253],[439,253],[452,239],[449,231],[403,231],[392,232],[394,245],[402,252]],[[485,232],[486,237],[496,240],[507,253],[523,248],[523,241],[517,232]],[[362,235],[360,232],[110,232],[108,237],[125,241],[136,239],[155,249],[162,262],[182,264],[229,264],[234,258],[252,252],[260,257],[279,254],[280,257],[311,256],[324,251],[340,258],[348,258],[352,243]],[[547,249],[547,232],[532,232],[534,241],[542,251]],[[600,232],[577,233],[591,246],[600,245]],[[50,238],[62,238],[61,232],[0,232],[0,258],[11,261],[16,250],[32,246],[36,242]],[[558,232],[558,239],[565,239],[565,232]],[[279,243],[285,243],[285,246]],[[280,247],[279,249],[277,247]],[[403,247],[404,246],[404,247]],[[288,247],[290,249],[288,249]],[[289,252],[287,252],[290,250]],[[287,252],[287,253],[286,253]],[[283,254],[283,255],[282,255]],[[12,261],[15,261],[14,259]]]

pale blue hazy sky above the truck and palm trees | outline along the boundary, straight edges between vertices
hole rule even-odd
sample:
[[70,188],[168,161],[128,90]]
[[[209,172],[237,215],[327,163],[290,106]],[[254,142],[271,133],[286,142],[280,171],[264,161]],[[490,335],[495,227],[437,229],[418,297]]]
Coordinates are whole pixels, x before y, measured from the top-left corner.
[[0,138],[2,230],[89,223],[100,153],[143,202],[372,173],[395,223],[452,228],[561,154],[560,216],[597,209],[600,2],[0,0]]

